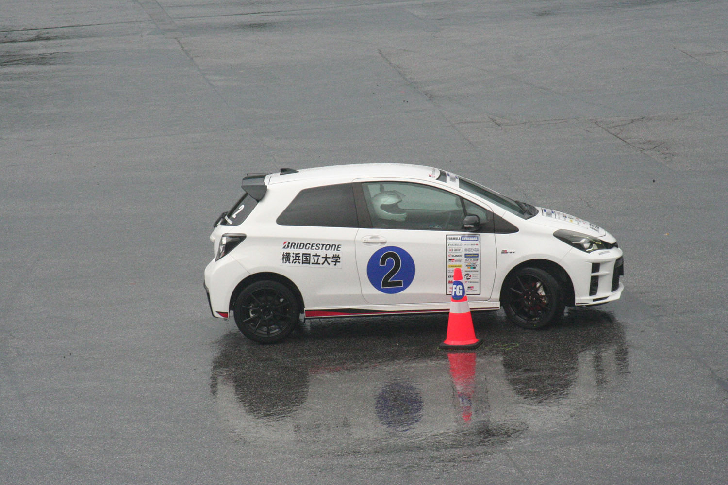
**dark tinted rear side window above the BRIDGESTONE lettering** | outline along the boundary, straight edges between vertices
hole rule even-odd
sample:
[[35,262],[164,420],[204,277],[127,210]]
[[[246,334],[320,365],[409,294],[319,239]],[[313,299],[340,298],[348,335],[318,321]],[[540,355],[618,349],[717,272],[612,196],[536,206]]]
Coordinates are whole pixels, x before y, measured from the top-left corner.
[[352,184],[304,188],[278,216],[276,223],[324,228],[358,227]]

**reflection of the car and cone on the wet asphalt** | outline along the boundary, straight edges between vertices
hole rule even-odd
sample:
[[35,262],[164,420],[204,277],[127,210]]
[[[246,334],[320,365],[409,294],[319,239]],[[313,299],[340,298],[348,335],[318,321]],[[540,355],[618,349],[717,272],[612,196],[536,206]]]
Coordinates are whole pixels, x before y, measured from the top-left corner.
[[438,350],[442,332],[442,318],[425,316],[316,326],[275,348],[227,334],[211,389],[245,440],[450,449],[558,426],[627,372],[622,327],[597,310],[572,311],[548,334],[488,318],[477,352]]

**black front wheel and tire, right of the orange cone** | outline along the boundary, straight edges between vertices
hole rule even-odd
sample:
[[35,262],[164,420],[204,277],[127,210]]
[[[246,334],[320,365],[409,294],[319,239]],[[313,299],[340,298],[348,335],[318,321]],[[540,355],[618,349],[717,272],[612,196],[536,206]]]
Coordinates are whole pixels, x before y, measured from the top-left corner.
[[563,315],[563,291],[558,281],[540,268],[521,268],[504,283],[503,309],[524,329],[544,329]]

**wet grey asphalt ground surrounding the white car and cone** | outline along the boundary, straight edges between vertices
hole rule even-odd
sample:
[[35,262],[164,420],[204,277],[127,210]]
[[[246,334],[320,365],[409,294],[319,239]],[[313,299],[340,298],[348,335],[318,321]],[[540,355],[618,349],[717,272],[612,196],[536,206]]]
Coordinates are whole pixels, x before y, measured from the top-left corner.
[[[728,480],[728,2],[0,0],[0,482]],[[603,225],[622,300],[306,321],[202,270],[245,172],[451,169]]]

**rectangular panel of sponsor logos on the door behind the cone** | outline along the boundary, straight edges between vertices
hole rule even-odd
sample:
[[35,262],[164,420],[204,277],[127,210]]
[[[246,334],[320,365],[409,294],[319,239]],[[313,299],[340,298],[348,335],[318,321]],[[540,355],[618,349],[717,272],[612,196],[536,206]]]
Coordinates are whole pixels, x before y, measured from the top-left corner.
[[480,235],[448,234],[445,237],[446,286],[445,294],[452,294],[455,268],[461,268],[465,281],[465,294],[480,294]]

